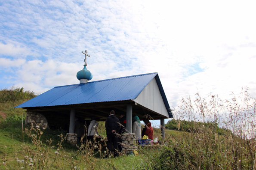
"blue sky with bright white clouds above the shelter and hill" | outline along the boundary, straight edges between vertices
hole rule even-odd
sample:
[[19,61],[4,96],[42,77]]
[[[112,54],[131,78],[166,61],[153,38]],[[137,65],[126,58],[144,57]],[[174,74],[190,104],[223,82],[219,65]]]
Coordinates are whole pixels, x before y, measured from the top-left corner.
[[234,0],[0,0],[0,88],[158,72],[170,107],[200,92],[256,96],[255,3]]

